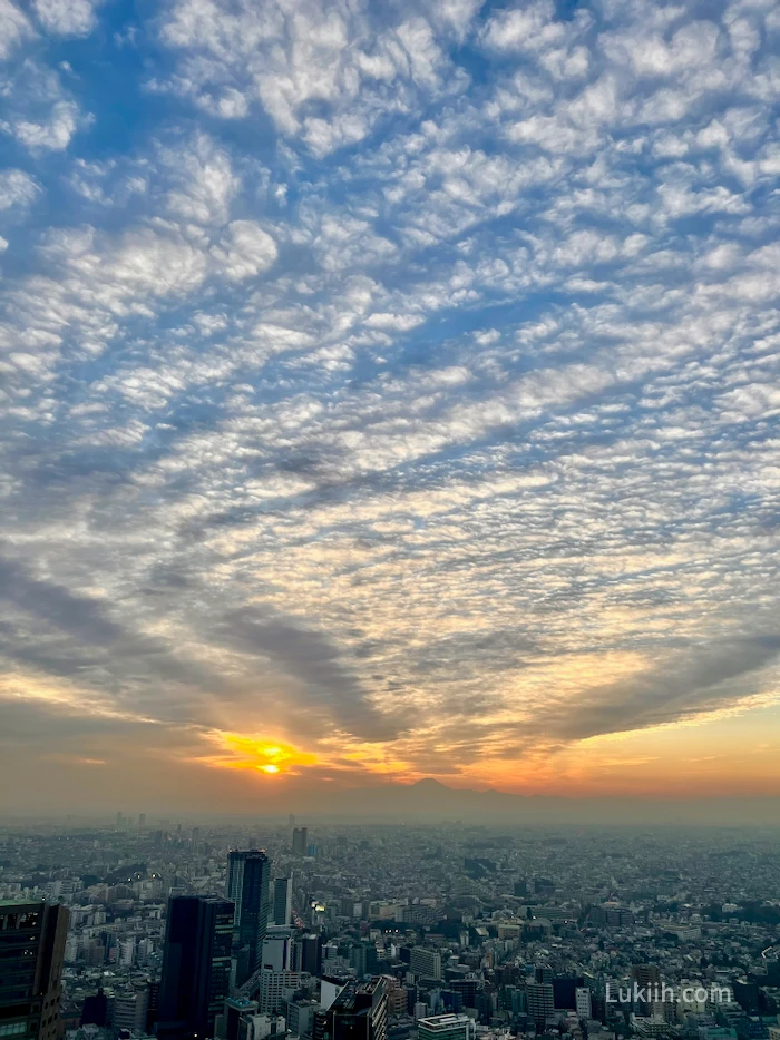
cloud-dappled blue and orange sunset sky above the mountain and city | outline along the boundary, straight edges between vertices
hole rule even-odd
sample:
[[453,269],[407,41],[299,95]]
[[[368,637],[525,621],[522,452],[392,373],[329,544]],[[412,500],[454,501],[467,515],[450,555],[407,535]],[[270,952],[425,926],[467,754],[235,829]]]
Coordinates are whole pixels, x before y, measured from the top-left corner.
[[6,807],[780,794],[779,56],[0,0]]

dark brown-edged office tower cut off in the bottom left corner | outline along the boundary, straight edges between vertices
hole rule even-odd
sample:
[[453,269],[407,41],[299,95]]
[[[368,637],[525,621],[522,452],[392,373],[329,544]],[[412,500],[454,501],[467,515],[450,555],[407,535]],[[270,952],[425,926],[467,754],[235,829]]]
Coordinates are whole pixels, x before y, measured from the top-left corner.
[[68,910],[0,901],[0,1037],[55,1040]]

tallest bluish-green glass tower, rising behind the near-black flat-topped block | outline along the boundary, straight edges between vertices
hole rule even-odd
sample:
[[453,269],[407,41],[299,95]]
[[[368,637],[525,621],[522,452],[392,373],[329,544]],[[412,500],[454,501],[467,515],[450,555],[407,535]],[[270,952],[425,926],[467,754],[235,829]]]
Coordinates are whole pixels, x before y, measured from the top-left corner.
[[227,899],[235,903],[233,953],[235,984],[241,987],[261,965],[269,926],[271,861],[259,848],[234,850],[227,857]]

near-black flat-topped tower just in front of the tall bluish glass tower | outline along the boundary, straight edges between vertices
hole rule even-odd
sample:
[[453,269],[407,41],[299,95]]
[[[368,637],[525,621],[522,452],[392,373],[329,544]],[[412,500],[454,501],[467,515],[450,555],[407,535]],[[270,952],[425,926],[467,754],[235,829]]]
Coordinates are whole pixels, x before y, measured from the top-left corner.
[[233,903],[203,895],[168,901],[157,1036],[213,1037],[230,991]]

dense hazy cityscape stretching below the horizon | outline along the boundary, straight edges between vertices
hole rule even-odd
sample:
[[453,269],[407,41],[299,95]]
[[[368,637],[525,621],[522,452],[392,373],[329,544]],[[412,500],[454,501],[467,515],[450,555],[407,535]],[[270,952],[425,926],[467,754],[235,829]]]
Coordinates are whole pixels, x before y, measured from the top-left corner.
[[0,1036],[780,1040],[779,843],[455,820],[6,826]]

